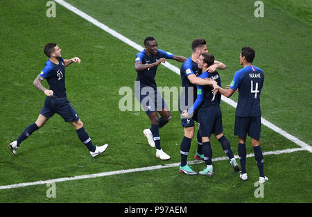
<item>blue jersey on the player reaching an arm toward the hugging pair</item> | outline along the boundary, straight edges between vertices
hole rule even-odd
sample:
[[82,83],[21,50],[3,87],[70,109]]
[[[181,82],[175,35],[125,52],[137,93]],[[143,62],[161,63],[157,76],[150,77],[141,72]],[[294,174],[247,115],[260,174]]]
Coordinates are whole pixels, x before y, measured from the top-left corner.
[[[146,54],[146,51],[144,50],[137,53],[135,62],[141,61],[142,64],[151,64],[157,62],[160,58],[173,59],[173,56],[174,55],[172,53],[168,53],[166,51],[158,49],[158,53],[150,57]],[[140,82],[141,87],[149,86],[157,89],[155,81],[157,67],[158,66],[150,67],[144,71],[137,71],[137,81]]]

